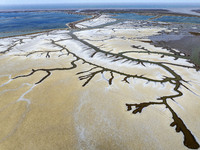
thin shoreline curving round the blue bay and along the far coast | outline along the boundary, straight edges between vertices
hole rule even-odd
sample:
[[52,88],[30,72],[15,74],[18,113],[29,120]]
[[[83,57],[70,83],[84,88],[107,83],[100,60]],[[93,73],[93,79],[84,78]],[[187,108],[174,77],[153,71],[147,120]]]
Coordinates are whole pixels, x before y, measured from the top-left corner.
[[[185,13],[180,13],[180,12],[173,12],[170,9],[81,9],[80,11],[78,11],[79,9],[43,9],[43,10],[11,10],[11,11],[0,11],[1,13],[20,13],[20,12],[66,12],[67,14],[74,14],[74,15],[85,15],[85,16],[91,16],[88,18],[84,18],[81,20],[77,20],[74,22],[70,22],[66,24],[66,28],[57,28],[57,29],[47,29],[45,31],[38,31],[38,32],[32,32],[32,33],[25,33],[25,34],[19,34],[19,35],[11,35],[11,36],[5,36],[5,37],[0,37],[0,39],[3,38],[11,38],[11,37],[17,37],[17,36],[26,36],[26,35],[32,35],[32,34],[38,34],[38,33],[47,33],[47,32],[51,32],[54,30],[69,30],[69,29],[77,29],[77,27],[75,26],[78,23],[84,22],[84,21],[88,21],[91,19],[95,19],[100,17],[102,14],[108,14],[108,13],[136,13],[139,15],[158,15],[159,16],[184,16],[184,17],[199,17],[198,15],[194,15],[194,14],[185,14]],[[191,11],[198,13],[199,10],[193,10],[191,9]],[[6,32],[4,32],[6,33]]]

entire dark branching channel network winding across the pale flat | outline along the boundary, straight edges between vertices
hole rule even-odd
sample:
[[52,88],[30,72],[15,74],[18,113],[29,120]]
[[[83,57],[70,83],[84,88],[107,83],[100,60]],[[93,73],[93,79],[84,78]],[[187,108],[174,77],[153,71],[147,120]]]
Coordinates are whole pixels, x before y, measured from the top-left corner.
[[[149,61],[149,60],[141,60],[141,59],[131,58],[131,57],[123,55],[125,53],[128,53],[126,51],[121,52],[119,54],[112,53],[111,51],[103,51],[100,48],[86,42],[85,40],[79,39],[75,34],[73,34],[73,32],[74,32],[74,30],[71,30],[69,32],[69,35],[72,37],[72,39],[77,40],[77,41],[81,42],[82,44],[84,44],[88,47],[87,49],[84,49],[84,51],[94,50],[94,52],[90,55],[90,58],[95,57],[95,55],[97,53],[101,53],[106,57],[106,59],[112,58],[112,60],[110,62],[115,62],[115,61],[122,61],[122,63],[124,63],[124,62],[135,62],[136,65],[141,64],[144,67],[146,67],[145,64],[156,65],[156,66],[161,67],[162,69],[164,69],[168,73],[170,73],[172,75],[172,77],[163,76],[162,79],[153,79],[153,78],[145,77],[144,75],[128,74],[128,73],[120,72],[116,69],[103,67],[103,66],[100,66],[98,64],[87,61],[84,58],[81,58],[80,56],[78,56],[73,51],[68,50],[65,46],[58,44],[57,42],[59,42],[59,41],[51,40],[51,44],[59,47],[61,50],[46,51],[46,52],[45,51],[42,51],[42,52],[41,51],[35,51],[35,52],[29,53],[27,55],[29,56],[29,55],[32,55],[34,53],[46,53],[46,57],[48,58],[48,57],[50,57],[50,53],[66,51],[67,55],[72,55],[75,58],[75,60],[73,60],[71,62],[72,66],[68,67],[68,68],[32,69],[32,71],[29,74],[16,76],[13,79],[22,78],[22,77],[29,77],[29,76],[34,75],[36,72],[45,72],[46,75],[43,76],[38,82],[35,83],[35,84],[39,84],[39,83],[42,83],[45,79],[47,79],[52,74],[52,72],[54,72],[54,71],[67,71],[67,70],[75,69],[77,67],[76,62],[82,61],[83,64],[86,63],[86,64],[89,64],[91,66],[91,68],[89,70],[77,73],[77,75],[79,75],[79,79],[84,80],[84,83],[82,85],[83,87],[88,85],[89,82],[92,81],[95,76],[97,76],[98,74],[103,74],[104,72],[110,73],[110,78],[108,79],[109,85],[112,85],[115,74],[121,75],[122,78],[123,78],[122,81],[127,83],[127,84],[130,83],[129,79],[141,79],[141,80],[145,80],[147,82],[155,82],[155,83],[161,83],[161,84],[170,83],[171,85],[174,86],[173,90],[176,92],[176,94],[159,97],[159,98],[157,98],[156,102],[144,102],[144,103],[140,103],[140,104],[126,104],[127,110],[128,111],[132,110],[132,112],[134,114],[136,114],[136,113],[142,113],[143,109],[145,109],[149,106],[152,106],[152,105],[164,105],[170,111],[170,113],[172,114],[173,122],[170,124],[170,126],[176,126],[176,131],[183,133],[183,136],[184,136],[184,142],[183,143],[184,143],[184,145],[186,147],[192,148],[192,149],[199,148],[199,144],[196,141],[196,139],[194,138],[191,131],[187,128],[187,126],[184,124],[182,119],[180,117],[178,117],[178,115],[175,113],[175,111],[167,103],[169,100],[175,101],[175,98],[181,97],[183,95],[183,93],[180,91],[181,87],[185,87],[187,90],[190,90],[189,88],[187,88],[183,84],[183,83],[187,83],[187,81],[182,79],[182,77],[179,74],[177,74],[173,69],[171,69],[167,65],[179,66],[179,67],[184,67],[184,68],[193,68],[193,69],[194,69],[194,67],[179,65],[179,64],[173,64],[173,63],[166,63],[166,62],[154,62],[154,61]],[[144,47],[137,47],[137,48],[144,50],[141,53],[153,54],[153,52],[145,49]],[[140,53],[140,51],[138,51],[137,53]],[[161,53],[159,53],[159,54],[161,54]],[[174,57],[174,55],[167,54],[167,53],[163,53],[161,55],[173,56]],[[180,55],[178,55],[178,57],[180,57]]]

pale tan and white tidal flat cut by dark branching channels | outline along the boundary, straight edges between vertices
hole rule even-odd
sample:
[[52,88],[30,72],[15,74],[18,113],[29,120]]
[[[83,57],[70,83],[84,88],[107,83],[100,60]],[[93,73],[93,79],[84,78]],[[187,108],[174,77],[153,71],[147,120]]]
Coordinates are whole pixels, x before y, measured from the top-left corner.
[[0,149],[199,149],[200,17],[71,13],[91,17],[0,38]]

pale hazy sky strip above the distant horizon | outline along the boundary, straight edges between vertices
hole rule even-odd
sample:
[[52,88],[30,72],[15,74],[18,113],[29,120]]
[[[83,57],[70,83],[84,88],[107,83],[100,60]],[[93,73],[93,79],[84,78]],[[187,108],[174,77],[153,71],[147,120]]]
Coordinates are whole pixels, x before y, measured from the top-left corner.
[[200,0],[0,0],[0,4],[52,4],[52,3],[200,3]]

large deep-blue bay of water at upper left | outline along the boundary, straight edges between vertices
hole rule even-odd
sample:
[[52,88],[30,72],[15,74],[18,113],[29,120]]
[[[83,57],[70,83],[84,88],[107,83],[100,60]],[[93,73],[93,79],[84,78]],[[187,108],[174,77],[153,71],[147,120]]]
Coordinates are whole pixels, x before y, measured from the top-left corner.
[[66,23],[86,16],[64,12],[9,12],[0,13],[0,37],[67,28]]

